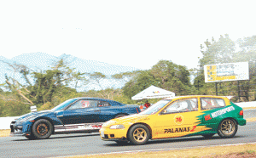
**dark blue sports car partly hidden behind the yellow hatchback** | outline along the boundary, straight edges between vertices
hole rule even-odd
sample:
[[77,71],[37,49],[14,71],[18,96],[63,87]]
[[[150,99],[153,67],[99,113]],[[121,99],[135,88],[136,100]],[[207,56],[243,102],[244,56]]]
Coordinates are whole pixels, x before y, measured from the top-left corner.
[[10,136],[44,139],[51,134],[95,133],[105,121],[139,112],[138,105],[109,99],[68,99],[52,110],[31,112],[12,121]]

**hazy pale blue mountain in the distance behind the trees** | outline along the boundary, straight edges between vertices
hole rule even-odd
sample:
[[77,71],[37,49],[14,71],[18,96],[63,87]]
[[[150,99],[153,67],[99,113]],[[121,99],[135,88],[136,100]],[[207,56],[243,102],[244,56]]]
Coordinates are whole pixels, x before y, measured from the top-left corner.
[[77,71],[80,71],[81,73],[101,72],[106,76],[111,76],[113,74],[117,74],[120,72],[139,70],[135,67],[130,66],[111,65],[108,63],[103,63],[94,60],[79,59],[78,57],[66,54],[62,54],[59,57],[45,53],[21,54],[19,56],[15,56],[12,59],[7,59],[3,56],[0,56],[0,83],[5,82],[5,74],[8,74],[8,76],[15,76],[16,79],[17,77],[20,77],[17,74],[13,74],[11,69],[9,69],[9,66],[3,62],[7,62],[10,64],[16,63],[26,65],[28,68],[34,71],[45,71],[49,69],[53,62],[57,61],[58,59],[61,59],[61,57],[67,57],[66,60],[68,63],[70,63],[69,67],[75,68]]

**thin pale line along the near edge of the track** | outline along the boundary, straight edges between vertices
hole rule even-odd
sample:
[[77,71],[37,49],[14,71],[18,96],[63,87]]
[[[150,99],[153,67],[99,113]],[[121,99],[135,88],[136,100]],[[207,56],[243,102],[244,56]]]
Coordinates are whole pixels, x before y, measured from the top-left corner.
[[[256,144],[256,142],[244,143],[244,144]],[[111,152],[111,153],[98,153],[98,154],[90,154],[90,155],[125,154],[125,153],[133,153],[133,152],[137,153],[137,152],[145,152],[145,151],[164,151],[164,150],[188,150],[188,149],[208,148],[208,147],[215,147],[215,146],[232,146],[232,145],[241,145],[241,144],[222,144],[222,145],[196,146],[196,147],[187,147],[187,148],[168,148],[168,149],[159,149],[159,150],[132,150],[132,151]],[[82,155],[68,155],[68,156],[82,156]],[[67,157],[67,155],[61,156],[61,157]]]

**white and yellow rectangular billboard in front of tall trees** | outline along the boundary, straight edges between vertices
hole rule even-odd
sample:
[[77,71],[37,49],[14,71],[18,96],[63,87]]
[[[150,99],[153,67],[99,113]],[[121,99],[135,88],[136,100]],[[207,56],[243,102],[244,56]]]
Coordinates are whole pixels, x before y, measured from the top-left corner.
[[249,80],[249,65],[247,62],[205,65],[205,82],[227,82]]

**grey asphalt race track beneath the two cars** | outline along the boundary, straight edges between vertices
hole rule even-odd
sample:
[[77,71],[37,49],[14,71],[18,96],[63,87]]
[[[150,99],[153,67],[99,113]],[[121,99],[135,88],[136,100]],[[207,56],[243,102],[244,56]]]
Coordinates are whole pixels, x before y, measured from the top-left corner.
[[[255,117],[256,110],[244,110],[245,118]],[[136,150],[178,150],[221,144],[256,142],[256,122],[238,127],[235,138],[212,138],[201,136],[154,140],[145,145],[121,145],[102,141],[98,133],[53,135],[44,140],[28,140],[23,137],[0,138],[0,157],[57,157],[67,155],[90,155]]]

